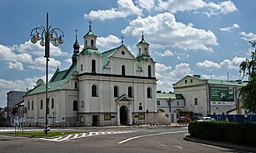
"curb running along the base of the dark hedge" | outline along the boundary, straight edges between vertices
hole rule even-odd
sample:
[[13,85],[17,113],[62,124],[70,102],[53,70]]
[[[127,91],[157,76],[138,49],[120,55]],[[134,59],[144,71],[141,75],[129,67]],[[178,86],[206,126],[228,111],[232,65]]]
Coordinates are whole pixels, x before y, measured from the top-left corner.
[[199,142],[199,143],[213,145],[213,146],[227,148],[227,149],[236,149],[236,150],[243,150],[243,151],[249,151],[249,152],[256,152],[256,148],[254,148],[253,146],[240,145],[240,144],[230,143],[230,142],[209,141],[206,139],[196,138],[191,135],[185,135],[183,137],[183,139],[188,142]]

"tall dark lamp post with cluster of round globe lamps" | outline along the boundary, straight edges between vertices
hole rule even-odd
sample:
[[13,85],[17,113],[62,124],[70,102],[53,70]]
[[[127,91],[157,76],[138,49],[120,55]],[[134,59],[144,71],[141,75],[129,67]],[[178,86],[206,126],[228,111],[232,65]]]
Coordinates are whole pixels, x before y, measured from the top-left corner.
[[[58,33],[59,37],[58,37]],[[53,26],[49,26],[49,13],[46,15],[46,27],[37,26],[35,27],[31,33],[31,42],[36,43],[40,40],[40,45],[45,47],[45,59],[46,59],[46,85],[45,85],[45,128],[44,133],[47,135],[48,133],[48,115],[49,115],[49,97],[48,97],[48,62],[49,62],[49,41],[52,41],[54,46],[58,46],[58,44],[62,44],[64,42],[64,33],[59,28],[54,28]],[[43,38],[44,36],[44,38]]]

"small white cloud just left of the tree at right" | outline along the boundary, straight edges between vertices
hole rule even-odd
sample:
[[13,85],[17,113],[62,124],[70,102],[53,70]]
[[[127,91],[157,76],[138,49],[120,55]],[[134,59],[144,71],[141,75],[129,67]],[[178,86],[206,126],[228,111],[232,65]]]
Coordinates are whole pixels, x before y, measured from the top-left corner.
[[234,57],[231,61],[228,59],[225,59],[223,62],[220,63],[220,65],[223,68],[228,69],[239,69],[239,65],[241,62],[245,61],[245,57]]

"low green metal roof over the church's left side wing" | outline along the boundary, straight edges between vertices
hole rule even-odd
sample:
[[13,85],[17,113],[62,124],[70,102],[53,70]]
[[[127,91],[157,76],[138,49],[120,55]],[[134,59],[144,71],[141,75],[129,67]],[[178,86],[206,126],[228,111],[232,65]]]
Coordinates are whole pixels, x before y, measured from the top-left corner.
[[[67,83],[68,81],[69,81],[69,79],[63,79],[63,80],[59,80],[59,81],[56,81],[56,82],[49,83],[48,84],[49,91],[57,91],[62,84]],[[27,91],[26,95],[29,96],[29,95],[34,95],[34,94],[38,94],[38,93],[44,93],[45,90],[46,90],[45,85],[46,84],[41,84],[39,86],[34,87],[33,90]]]

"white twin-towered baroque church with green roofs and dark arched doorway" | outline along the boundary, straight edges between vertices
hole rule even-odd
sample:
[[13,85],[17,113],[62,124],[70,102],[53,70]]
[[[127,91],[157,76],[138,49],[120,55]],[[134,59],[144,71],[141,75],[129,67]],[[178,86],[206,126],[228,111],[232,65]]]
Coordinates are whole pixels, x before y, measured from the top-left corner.
[[[49,125],[113,126],[155,124],[155,62],[144,35],[137,55],[122,44],[101,52],[97,36],[89,26],[84,48],[73,45],[72,65],[49,80]],[[45,84],[40,79],[26,92],[26,124],[45,122]]]

